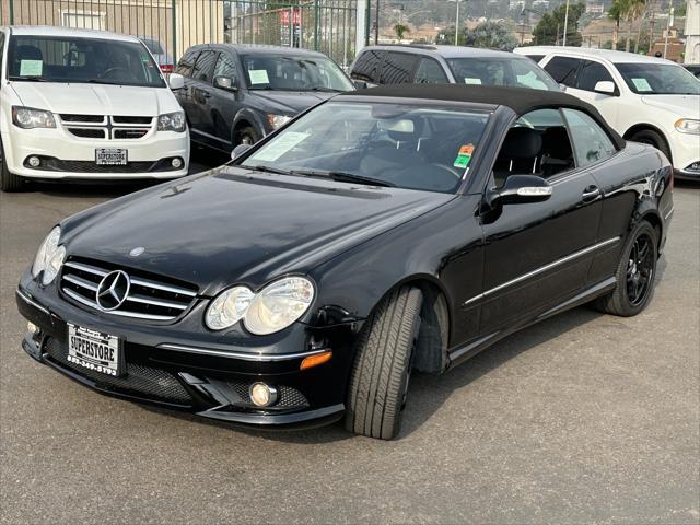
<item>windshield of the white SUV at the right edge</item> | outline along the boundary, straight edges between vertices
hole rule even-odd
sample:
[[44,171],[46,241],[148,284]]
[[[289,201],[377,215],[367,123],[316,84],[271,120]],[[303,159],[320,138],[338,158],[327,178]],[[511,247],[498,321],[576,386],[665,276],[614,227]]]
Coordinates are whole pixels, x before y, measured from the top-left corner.
[[674,63],[616,63],[625,82],[640,95],[698,95],[700,81]]

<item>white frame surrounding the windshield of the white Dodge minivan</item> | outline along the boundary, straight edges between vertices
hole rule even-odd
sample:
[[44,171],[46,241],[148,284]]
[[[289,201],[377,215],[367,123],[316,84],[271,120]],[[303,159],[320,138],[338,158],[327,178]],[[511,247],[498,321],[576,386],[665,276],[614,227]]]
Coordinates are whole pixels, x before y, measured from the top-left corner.
[[[18,40],[23,38],[23,37],[24,38],[31,38],[31,39],[45,39],[45,40],[59,40],[59,42],[60,40],[98,42],[101,44],[103,44],[103,43],[107,43],[108,44],[108,43],[112,43],[112,42],[116,42],[116,43],[119,43],[119,44],[139,46],[139,47],[141,47],[141,49],[143,51],[145,51],[145,56],[148,56],[149,62],[155,69],[155,71],[158,71],[156,78],[159,79],[160,82],[158,84],[144,84],[144,83],[117,82],[117,81],[103,82],[102,79],[100,79],[100,78],[94,78],[94,79],[70,79],[70,80],[61,79],[61,80],[59,80],[59,79],[45,78],[44,75],[40,75],[40,77],[11,75],[10,74],[10,69],[11,69],[10,68],[10,59],[14,57],[14,50],[15,50],[15,48],[18,46]],[[7,61],[5,80],[9,81],[9,82],[36,82],[38,80],[40,82],[55,83],[55,84],[126,85],[126,86],[132,86],[132,88],[149,88],[149,89],[167,88],[167,83],[165,82],[165,79],[163,78],[163,73],[161,72],[161,69],[160,69],[158,62],[154,60],[153,55],[151,54],[149,48],[139,38],[137,38],[137,37],[135,37],[135,38],[136,38],[136,42],[130,40],[130,39],[113,39],[113,38],[84,37],[84,36],[71,36],[71,35],[58,36],[58,35],[24,34],[24,33],[23,34],[11,34],[10,35],[10,43],[9,43],[10,45],[5,49],[5,61]]]

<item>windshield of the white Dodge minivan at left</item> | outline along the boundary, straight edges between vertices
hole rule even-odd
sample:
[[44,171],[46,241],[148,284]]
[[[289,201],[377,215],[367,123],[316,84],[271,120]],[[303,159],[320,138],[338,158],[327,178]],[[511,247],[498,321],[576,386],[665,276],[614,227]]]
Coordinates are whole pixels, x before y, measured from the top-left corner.
[[142,44],[103,38],[14,36],[8,79],[165,88]]

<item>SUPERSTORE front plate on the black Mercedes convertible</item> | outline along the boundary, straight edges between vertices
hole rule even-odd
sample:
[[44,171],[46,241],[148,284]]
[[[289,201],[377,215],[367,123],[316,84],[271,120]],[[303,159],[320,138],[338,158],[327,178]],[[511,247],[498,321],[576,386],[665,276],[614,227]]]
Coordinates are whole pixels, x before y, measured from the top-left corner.
[[120,374],[121,345],[118,337],[68,323],[68,361],[102,374]]

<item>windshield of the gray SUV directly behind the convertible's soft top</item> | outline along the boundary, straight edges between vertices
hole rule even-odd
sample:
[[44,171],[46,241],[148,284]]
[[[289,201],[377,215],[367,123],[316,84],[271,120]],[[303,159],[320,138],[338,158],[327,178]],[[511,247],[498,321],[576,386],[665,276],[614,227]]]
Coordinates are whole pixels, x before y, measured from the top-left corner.
[[447,58],[457,82],[560,91],[559,84],[528,58]]

